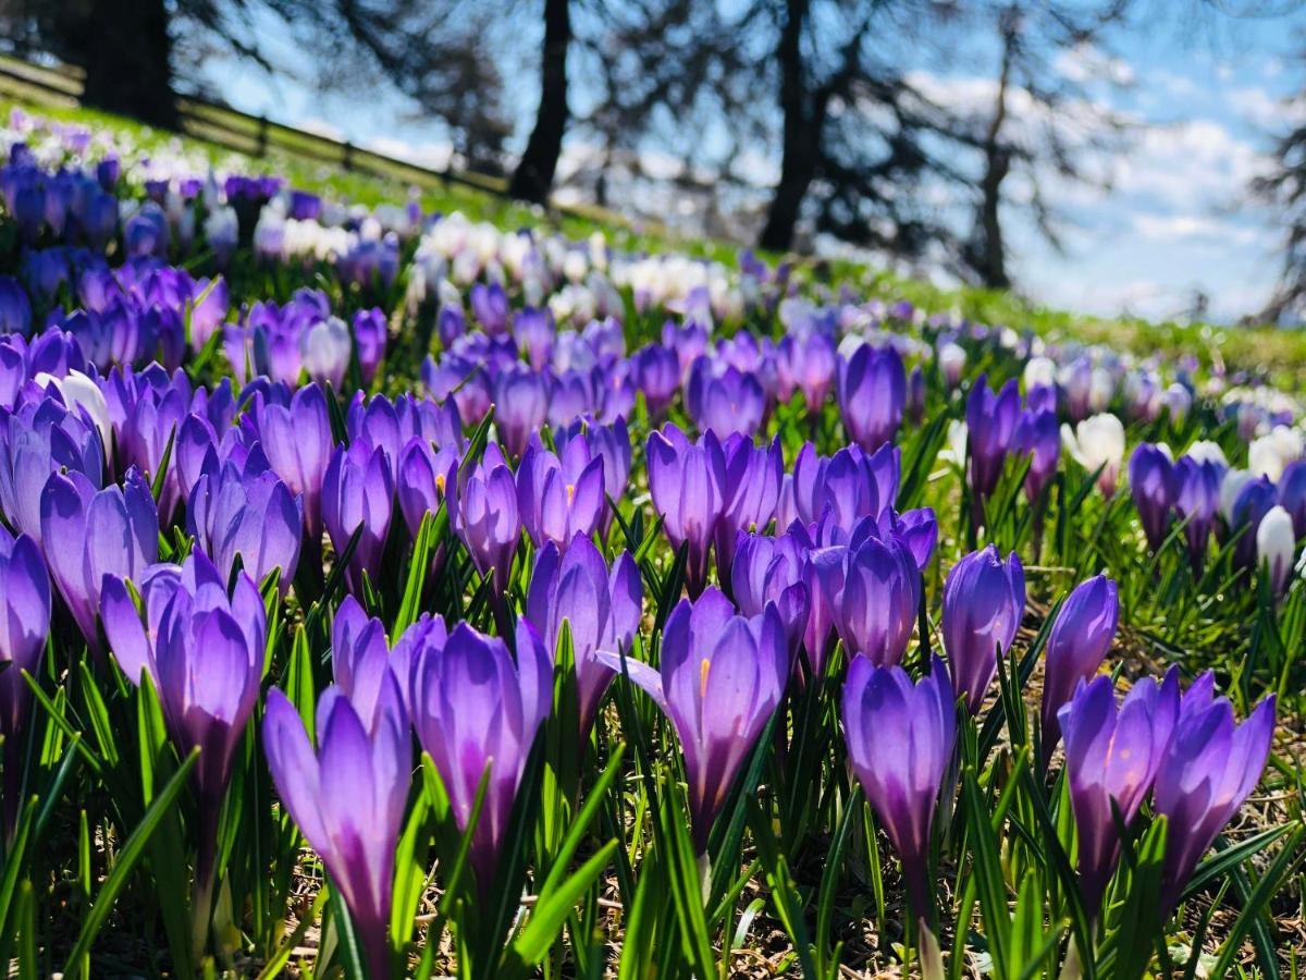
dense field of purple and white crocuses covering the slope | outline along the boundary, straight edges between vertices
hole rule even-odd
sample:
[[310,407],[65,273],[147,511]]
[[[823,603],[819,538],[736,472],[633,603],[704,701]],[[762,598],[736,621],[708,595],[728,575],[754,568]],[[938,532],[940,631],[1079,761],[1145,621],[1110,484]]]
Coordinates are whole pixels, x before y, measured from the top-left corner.
[[[816,304],[790,269],[751,255],[724,274],[415,206],[355,213],[274,179],[125,183],[116,158],[50,171],[21,144],[0,167],[5,220],[25,243],[18,276],[0,276],[4,830],[24,792],[24,674],[52,634],[60,657],[80,635],[98,681],[116,664],[151,686],[180,753],[199,749],[197,895],[212,899],[218,821],[256,727],[248,745],[263,746],[376,976],[390,971],[414,749],[470,831],[490,898],[558,708],[564,638],[575,750],[602,730],[614,683],[645,691],[679,742],[704,860],[772,719],[835,678],[848,763],[927,920],[959,730],[990,708],[999,665],[1036,623],[1015,551],[989,544],[942,576],[940,553],[963,549],[931,507],[909,504],[949,473],[912,460],[905,478],[904,423],[930,405],[953,417],[949,451],[974,503],[957,531],[978,536],[1012,460],[1028,460],[1040,515],[1063,446],[1110,500],[1121,416],[1160,426],[1191,408],[1187,376],[1166,388],[1151,367],[1080,349],[1058,367],[1033,338],[956,318],[906,329],[923,319],[908,304]],[[406,295],[388,294],[401,240],[418,235]],[[192,268],[210,274],[170,264],[201,247]],[[256,256],[329,260],[337,281],[234,297],[221,270],[256,269]],[[666,318],[633,351],[626,301]],[[774,316],[781,336],[717,329],[742,311]],[[435,353],[418,367],[407,341],[419,323]],[[965,376],[977,351],[1006,372],[996,393],[987,374]],[[405,370],[417,392],[383,393]],[[1127,482],[1153,551],[1182,523],[1196,570],[1216,534],[1281,593],[1306,534],[1306,461],[1255,422],[1255,476],[1213,443],[1178,461],[1141,443]],[[419,591],[396,626],[410,557],[438,523],[421,571],[458,595],[436,606],[434,587]],[[324,598],[328,570],[343,584]],[[666,592],[656,608],[646,589]],[[1119,818],[1130,825],[1151,796],[1169,818],[1169,915],[1259,779],[1275,700],[1238,725],[1209,673],[1181,694],[1171,670],[1117,704],[1100,672],[1121,618],[1106,575],[1058,608],[1038,762],[1047,771],[1063,745],[1093,916],[1119,862]],[[323,643],[329,632],[332,683],[316,706],[285,678],[283,619],[304,636],[320,626]]]

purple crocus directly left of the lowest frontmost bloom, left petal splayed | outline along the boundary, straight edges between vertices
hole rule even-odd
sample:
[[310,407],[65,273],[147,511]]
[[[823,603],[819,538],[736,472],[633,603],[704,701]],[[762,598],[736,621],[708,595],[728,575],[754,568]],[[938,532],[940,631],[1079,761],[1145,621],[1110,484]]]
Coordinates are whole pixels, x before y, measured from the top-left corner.
[[[253,579],[240,572],[229,593],[226,578],[202,551],[192,551],[180,567],[132,571],[140,574],[104,575],[104,635],[132,683],[150,676],[182,751],[201,750],[195,767],[201,825],[196,878],[208,896],[231,759],[259,700],[266,613]],[[145,623],[124,578],[140,583]]]

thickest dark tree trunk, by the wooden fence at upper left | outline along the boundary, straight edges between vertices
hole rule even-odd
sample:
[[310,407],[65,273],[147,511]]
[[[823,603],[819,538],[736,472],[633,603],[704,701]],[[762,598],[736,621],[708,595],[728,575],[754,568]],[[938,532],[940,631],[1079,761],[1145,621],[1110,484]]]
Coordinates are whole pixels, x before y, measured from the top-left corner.
[[60,0],[59,41],[86,72],[82,102],[176,128],[166,0]]

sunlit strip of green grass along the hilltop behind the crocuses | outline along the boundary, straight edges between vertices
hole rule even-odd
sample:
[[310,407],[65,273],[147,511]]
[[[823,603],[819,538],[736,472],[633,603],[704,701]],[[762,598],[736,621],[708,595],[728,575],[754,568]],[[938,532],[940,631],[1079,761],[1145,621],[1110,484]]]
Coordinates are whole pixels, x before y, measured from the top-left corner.
[[[8,112],[14,105],[17,103],[12,99],[0,98],[0,111]],[[276,152],[261,159],[240,157],[213,144],[161,133],[121,116],[86,108],[39,106],[33,107],[33,111],[112,129],[131,137],[141,148],[178,142],[215,163],[238,159],[247,169],[277,172],[296,187],[317,189],[345,201],[368,205],[383,201],[401,203],[407,200],[410,193],[410,188],[398,179],[346,172],[336,166],[306,162]],[[500,227],[546,222],[577,239],[602,230],[613,244],[626,250],[674,248],[729,264],[734,263],[738,251],[738,246],[730,243],[671,237],[662,229],[641,229],[624,221],[605,220],[599,213],[552,210],[546,213],[538,208],[515,204],[504,197],[457,184],[423,193],[422,203],[428,209],[461,210],[471,218],[490,221]],[[1286,391],[1298,392],[1306,385],[1306,331],[1222,328],[1209,324],[1084,316],[1030,304],[1012,293],[965,287],[940,289],[929,282],[896,277],[846,261],[835,263],[829,273],[835,282],[852,280],[861,284],[870,295],[910,299],[931,312],[955,310],[982,323],[1003,324],[1016,329],[1029,328],[1047,340],[1109,344],[1140,357],[1195,354],[1205,365],[1224,363],[1230,370],[1264,371]]]

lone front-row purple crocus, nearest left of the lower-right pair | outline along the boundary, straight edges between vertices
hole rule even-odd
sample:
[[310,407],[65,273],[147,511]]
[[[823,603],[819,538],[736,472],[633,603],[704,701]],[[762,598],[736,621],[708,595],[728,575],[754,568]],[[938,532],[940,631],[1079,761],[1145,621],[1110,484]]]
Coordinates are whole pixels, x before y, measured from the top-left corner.
[[854,657],[841,713],[849,764],[902,861],[912,912],[927,921],[930,830],[957,734],[948,670],[935,657],[913,686],[900,666]]

